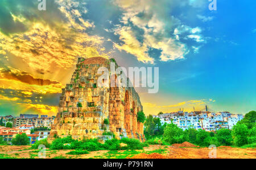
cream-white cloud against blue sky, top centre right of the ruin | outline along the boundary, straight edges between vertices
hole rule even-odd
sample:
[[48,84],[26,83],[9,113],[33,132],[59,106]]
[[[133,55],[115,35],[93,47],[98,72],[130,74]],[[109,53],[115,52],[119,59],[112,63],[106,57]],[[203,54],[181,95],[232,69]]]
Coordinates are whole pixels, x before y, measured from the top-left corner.
[[[115,34],[119,35],[121,43],[115,43],[114,46],[136,56],[143,63],[154,62],[154,58],[148,53],[150,49],[158,49],[162,61],[184,59],[189,47],[181,42],[179,34],[183,32],[175,33],[175,28],[187,28],[192,34],[187,38],[196,42],[204,42],[204,40],[200,35],[195,35],[201,32],[199,27],[184,26],[179,19],[170,15],[177,3],[180,2],[116,0],[115,4],[123,10],[123,14],[120,18],[122,24],[115,29]],[[181,6],[193,7],[201,7],[203,4],[203,1],[180,3]]]

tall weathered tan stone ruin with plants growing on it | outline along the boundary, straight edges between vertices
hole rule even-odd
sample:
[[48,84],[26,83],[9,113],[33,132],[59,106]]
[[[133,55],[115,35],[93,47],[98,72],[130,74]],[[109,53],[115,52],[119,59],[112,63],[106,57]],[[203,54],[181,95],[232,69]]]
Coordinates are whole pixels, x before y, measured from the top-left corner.
[[[48,136],[49,142],[56,136],[63,138],[68,135],[73,139],[98,138],[103,142],[111,138],[106,135],[108,132],[118,139],[128,137],[144,140],[143,123],[137,121],[137,113],[143,107],[135,89],[97,86],[98,77],[102,75],[97,73],[98,68],[105,67],[110,71],[112,60],[79,57],[70,83],[62,89],[59,111]],[[109,120],[109,125],[104,123],[105,119]]]

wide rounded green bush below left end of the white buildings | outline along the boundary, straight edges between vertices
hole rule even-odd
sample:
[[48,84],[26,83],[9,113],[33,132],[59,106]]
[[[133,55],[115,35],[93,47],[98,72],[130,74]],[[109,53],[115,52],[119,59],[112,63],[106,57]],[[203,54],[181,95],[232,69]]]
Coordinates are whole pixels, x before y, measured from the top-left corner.
[[168,124],[166,128],[164,128],[163,140],[164,142],[168,142],[170,144],[174,143],[183,143],[187,140],[187,135],[185,132],[175,124]]

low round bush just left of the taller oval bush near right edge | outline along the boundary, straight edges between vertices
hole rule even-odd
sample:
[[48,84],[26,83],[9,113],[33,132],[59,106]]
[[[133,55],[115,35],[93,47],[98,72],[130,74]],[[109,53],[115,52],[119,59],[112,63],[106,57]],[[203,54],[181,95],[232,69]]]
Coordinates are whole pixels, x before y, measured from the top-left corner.
[[220,130],[217,130],[216,138],[218,139],[218,142],[220,143],[220,145],[224,145],[224,146],[232,145],[233,139],[231,135],[231,130],[227,128],[221,128]]

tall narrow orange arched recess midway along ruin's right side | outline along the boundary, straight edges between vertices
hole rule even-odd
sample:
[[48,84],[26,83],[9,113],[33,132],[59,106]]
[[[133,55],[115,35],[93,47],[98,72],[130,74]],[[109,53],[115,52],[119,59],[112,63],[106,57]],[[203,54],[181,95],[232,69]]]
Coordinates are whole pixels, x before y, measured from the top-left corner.
[[130,99],[129,99],[129,92],[126,90],[125,92],[125,128],[127,132],[127,136],[129,137],[131,134],[131,125],[130,125]]

